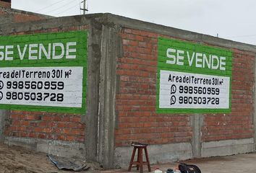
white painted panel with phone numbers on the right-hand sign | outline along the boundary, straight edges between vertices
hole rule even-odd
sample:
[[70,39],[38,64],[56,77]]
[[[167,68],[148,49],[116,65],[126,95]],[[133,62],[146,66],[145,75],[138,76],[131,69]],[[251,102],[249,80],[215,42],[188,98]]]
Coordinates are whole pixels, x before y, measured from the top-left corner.
[[229,109],[230,77],[160,71],[159,108]]

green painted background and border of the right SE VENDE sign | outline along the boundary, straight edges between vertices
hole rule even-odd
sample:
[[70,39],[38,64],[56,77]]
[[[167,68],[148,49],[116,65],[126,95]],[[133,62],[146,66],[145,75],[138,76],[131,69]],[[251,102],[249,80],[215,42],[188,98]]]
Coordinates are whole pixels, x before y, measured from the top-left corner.
[[[186,66],[178,66],[178,65],[168,65],[173,66],[173,68],[170,69],[170,67],[163,67],[159,59],[165,58],[163,56],[163,50],[166,51],[166,48],[181,48],[182,50],[213,50],[214,54],[219,54],[219,52],[225,52],[226,58],[228,58],[228,68],[226,74],[221,74],[221,71],[213,71],[208,69],[203,69],[201,71],[198,71],[198,68],[187,68]],[[164,53],[166,54],[166,52]],[[156,79],[156,112],[157,113],[229,113],[231,112],[231,82],[232,82],[232,56],[233,52],[231,50],[223,49],[223,48],[216,48],[211,47],[208,45],[201,45],[198,43],[189,43],[187,41],[181,41],[181,40],[174,40],[174,39],[168,39],[164,37],[158,37],[158,70],[157,70],[157,79]],[[211,76],[228,76],[229,79],[229,109],[215,109],[215,108],[159,108],[159,92],[160,92],[160,71],[166,70],[166,71],[178,71],[178,72],[184,72],[184,73],[191,73],[191,74],[205,74],[205,75],[211,75]]]

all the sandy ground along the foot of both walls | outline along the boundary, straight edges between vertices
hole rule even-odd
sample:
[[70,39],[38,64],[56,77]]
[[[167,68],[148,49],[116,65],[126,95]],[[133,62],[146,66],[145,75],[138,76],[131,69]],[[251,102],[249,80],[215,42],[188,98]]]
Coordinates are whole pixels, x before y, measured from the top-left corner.
[[[239,154],[234,156],[213,157],[207,159],[192,159],[184,161],[187,164],[196,164],[202,170],[202,173],[239,173],[256,172],[256,153]],[[87,163],[91,168],[85,172],[101,173],[119,173],[127,172],[127,168],[103,170],[98,164]],[[168,168],[174,168],[176,163],[151,165],[154,170],[159,167],[166,171]],[[69,173],[72,171],[59,170],[48,159],[44,153],[30,151],[20,146],[7,146],[0,144],[0,173]],[[132,172],[138,172],[135,168]],[[130,173],[132,173],[130,172]],[[144,167],[144,172],[148,172]]]

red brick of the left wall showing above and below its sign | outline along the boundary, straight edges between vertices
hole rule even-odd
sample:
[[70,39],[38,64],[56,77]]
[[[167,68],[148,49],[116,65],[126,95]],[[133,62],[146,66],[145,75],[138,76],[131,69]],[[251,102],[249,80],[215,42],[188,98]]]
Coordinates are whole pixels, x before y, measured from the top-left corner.
[[[72,30],[88,30],[88,26],[53,28],[49,30],[35,30],[33,32],[17,32],[14,35],[29,35],[43,32],[68,32]],[[5,125],[5,136],[22,138],[42,138],[60,141],[85,141],[86,115],[27,112],[12,110]]]

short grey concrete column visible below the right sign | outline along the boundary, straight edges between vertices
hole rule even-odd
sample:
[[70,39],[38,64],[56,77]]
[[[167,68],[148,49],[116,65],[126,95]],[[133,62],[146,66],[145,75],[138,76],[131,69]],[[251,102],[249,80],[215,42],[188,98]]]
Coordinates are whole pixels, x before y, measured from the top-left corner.
[[203,122],[203,115],[194,114],[191,116],[191,125],[193,128],[193,136],[192,136],[192,157],[200,158],[201,157],[201,127]]

